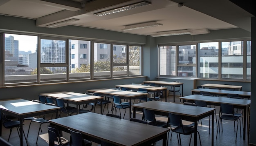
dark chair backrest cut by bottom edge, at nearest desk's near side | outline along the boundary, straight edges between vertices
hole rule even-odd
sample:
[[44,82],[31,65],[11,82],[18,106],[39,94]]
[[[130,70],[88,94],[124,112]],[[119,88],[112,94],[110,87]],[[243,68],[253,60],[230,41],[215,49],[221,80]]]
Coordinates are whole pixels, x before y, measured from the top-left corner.
[[70,129],[68,130],[70,131],[70,146],[85,146],[81,133],[72,131]]

